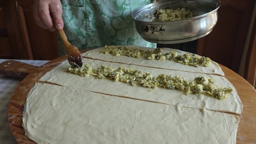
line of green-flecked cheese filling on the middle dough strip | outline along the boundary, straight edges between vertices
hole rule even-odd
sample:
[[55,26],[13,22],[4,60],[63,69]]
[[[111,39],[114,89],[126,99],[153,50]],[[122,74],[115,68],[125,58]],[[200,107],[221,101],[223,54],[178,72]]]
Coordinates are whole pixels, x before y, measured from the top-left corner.
[[92,69],[89,64],[85,64],[81,68],[71,66],[67,72],[85,77],[93,75],[98,79],[113,79],[115,82],[130,83],[132,86],[139,85],[147,88],[160,86],[163,89],[178,89],[185,91],[186,95],[191,93],[205,94],[217,99],[225,99],[232,92],[231,88],[216,86],[212,79],[207,79],[206,77],[196,77],[192,82],[189,82],[183,77],[172,77],[166,74],[159,74],[158,77],[153,77],[150,73],[124,67],[119,67],[117,70],[107,66]]

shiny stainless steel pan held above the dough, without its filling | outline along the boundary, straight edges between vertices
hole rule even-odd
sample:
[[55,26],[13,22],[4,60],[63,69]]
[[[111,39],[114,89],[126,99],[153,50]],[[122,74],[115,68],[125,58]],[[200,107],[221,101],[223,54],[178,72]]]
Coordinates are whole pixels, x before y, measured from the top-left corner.
[[[193,18],[158,22],[158,9],[187,7]],[[144,40],[160,44],[183,43],[209,34],[217,23],[219,0],[164,0],[148,4],[132,13],[137,32]]]

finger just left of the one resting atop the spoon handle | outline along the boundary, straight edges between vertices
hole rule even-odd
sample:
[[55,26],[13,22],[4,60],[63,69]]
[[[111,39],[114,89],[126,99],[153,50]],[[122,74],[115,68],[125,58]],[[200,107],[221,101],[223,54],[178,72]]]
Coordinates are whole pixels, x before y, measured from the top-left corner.
[[49,3],[47,1],[40,1],[38,4],[38,13],[39,16],[45,24],[45,26],[50,30],[50,31],[55,31],[52,18],[50,16],[50,11],[49,11]]

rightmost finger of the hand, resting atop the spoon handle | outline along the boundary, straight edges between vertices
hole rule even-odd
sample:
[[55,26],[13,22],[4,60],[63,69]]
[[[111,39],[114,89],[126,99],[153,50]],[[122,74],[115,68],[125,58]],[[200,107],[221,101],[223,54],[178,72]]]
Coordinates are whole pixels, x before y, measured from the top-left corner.
[[62,6],[59,0],[51,1],[49,4],[50,10],[54,17],[54,25],[57,30],[63,29],[63,19],[62,19]]

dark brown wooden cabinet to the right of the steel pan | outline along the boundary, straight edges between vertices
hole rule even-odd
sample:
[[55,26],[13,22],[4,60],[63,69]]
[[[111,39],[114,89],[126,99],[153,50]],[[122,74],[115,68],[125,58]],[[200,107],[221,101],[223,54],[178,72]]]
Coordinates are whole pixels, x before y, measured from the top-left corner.
[[254,3],[221,0],[218,22],[210,34],[198,39],[197,53],[238,72]]

